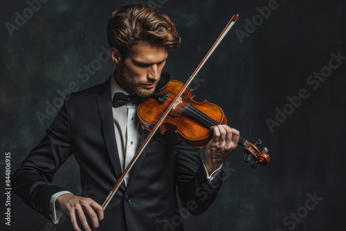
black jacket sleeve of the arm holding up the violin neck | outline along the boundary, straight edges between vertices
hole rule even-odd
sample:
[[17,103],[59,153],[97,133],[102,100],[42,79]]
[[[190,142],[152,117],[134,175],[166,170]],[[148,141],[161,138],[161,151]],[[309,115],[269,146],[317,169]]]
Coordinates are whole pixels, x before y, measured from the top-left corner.
[[182,206],[193,215],[203,213],[215,201],[221,187],[222,171],[210,185],[203,169],[200,149],[183,142],[176,146],[175,177]]

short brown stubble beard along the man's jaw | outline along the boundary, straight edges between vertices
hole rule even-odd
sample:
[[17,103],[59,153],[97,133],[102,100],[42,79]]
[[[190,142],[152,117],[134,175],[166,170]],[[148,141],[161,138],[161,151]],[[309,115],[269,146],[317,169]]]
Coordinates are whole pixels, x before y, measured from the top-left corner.
[[145,89],[143,87],[143,84],[154,84],[156,82],[155,80],[147,80],[147,82],[136,82],[136,80],[131,77],[129,68],[127,68],[125,64],[122,64],[120,68],[120,82],[122,86],[126,86],[127,89],[142,98],[147,98],[150,95],[154,94],[156,89],[156,86],[152,89]]

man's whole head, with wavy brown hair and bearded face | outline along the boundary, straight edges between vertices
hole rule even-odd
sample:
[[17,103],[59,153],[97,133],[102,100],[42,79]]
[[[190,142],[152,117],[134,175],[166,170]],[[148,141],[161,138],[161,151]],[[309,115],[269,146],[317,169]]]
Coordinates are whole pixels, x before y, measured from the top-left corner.
[[165,66],[167,49],[180,44],[170,18],[144,4],[121,6],[109,19],[107,37],[111,59],[118,66],[118,84],[129,93],[152,95]]

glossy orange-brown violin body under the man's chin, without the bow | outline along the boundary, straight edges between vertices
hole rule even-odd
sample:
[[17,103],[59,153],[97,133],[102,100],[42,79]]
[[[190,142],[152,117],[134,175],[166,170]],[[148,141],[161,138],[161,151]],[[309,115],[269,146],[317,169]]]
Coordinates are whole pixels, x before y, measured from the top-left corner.
[[[138,105],[137,114],[143,128],[152,130],[183,85],[177,80],[170,80],[164,89]],[[173,130],[187,145],[203,147],[213,136],[210,127],[215,124],[226,124],[226,116],[219,106],[206,100],[195,102],[192,98],[194,98],[192,90],[185,89],[181,99],[174,105],[158,131],[164,133]]]

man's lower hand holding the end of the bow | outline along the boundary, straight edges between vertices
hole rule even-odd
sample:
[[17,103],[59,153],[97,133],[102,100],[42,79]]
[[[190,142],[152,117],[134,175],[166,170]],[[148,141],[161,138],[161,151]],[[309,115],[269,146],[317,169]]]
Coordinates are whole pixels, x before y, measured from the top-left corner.
[[55,207],[70,216],[75,231],[81,231],[77,224],[77,216],[84,230],[91,231],[84,213],[89,215],[93,230],[96,230],[98,228],[98,222],[103,220],[102,206],[91,198],[74,196],[73,194],[62,194],[57,197]]

